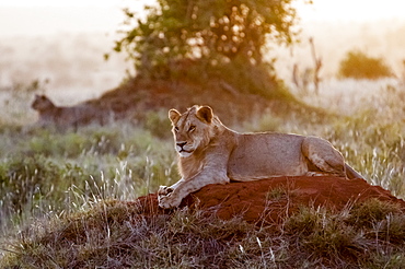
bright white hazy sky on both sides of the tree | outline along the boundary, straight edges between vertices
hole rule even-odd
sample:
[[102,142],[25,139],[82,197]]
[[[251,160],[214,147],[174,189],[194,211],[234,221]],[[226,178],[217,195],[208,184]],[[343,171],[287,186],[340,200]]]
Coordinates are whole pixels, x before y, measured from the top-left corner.
[[[405,20],[404,0],[314,0],[301,4],[303,21]],[[0,37],[45,35],[60,32],[114,33],[124,15],[123,7],[151,0],[0,0]]]

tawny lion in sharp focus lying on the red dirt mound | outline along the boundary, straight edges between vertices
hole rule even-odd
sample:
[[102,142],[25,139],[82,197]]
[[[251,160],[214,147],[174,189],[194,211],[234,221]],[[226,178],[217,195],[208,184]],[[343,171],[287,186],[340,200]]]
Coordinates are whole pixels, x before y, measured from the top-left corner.
[[169,110],[182,178],[160,186],[161,208],[178,207],[183,198],[209,184],[259,180],[275,176],[363,178],[345,163],[328,141],[278,132],[240,133],[225,127],[209,106],[181,114]]

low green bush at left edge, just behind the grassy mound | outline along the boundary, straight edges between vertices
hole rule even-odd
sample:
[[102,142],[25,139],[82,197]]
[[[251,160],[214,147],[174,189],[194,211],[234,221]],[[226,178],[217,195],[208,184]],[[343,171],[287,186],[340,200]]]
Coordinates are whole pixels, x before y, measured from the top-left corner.
[[[0,215],[32,213],[39,204],[65,207],[71,186],[85,189],[89,175],[77,165],[58,165],[43,155],[14,156],[0,164]],[[0,223],[7,219],[0,220]]]

